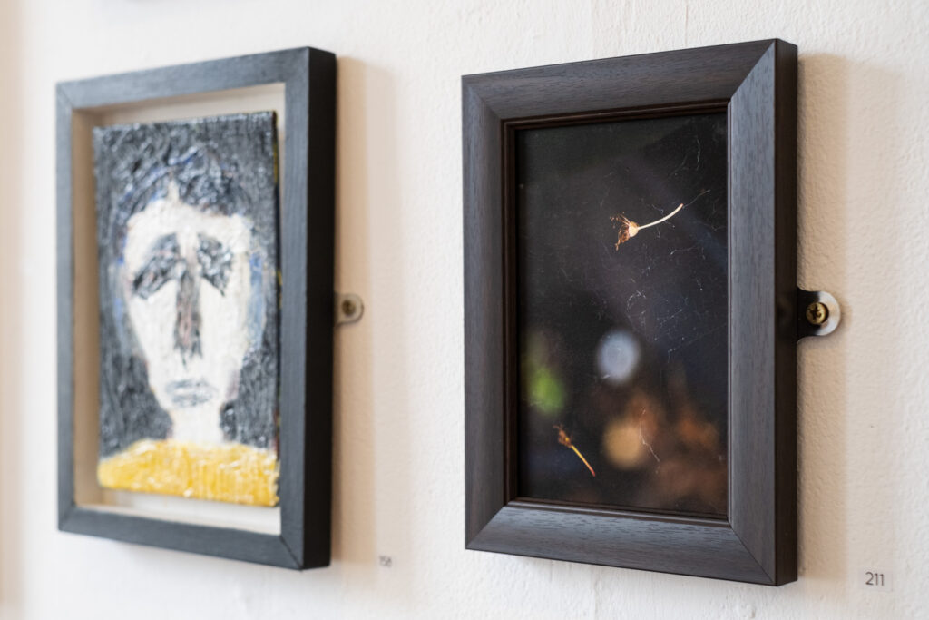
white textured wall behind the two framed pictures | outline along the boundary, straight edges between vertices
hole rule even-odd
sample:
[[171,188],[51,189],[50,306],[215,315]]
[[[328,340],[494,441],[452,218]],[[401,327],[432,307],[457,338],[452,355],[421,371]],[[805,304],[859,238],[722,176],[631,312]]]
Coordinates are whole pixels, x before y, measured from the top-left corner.
[[[925,0],[0,1],[0,618],[929,617],[927,26]],[[799,284],[844,315],[799,348],[800,579],[465,551],[460,76],[775,36]],[[336,283],[366,302],[335,340],[332,566],[60,534],[55,83],[307,45],[339,57]]]

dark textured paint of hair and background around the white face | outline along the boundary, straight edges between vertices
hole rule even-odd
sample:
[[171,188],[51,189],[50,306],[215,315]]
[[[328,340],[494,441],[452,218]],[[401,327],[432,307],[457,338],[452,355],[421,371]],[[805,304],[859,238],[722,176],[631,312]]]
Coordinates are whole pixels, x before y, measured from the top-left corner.
[[255,245],[252,281],[265,321],[245,354],[238,393],[217,412],[226,439],[276,444],[278,397],[277,138],[273,112],[94,129],[100,301],[101,456],[164,439],[171,419],[149,386],[147,363],[120,284],[127,225],[177,188],[184,204],[242,216]]

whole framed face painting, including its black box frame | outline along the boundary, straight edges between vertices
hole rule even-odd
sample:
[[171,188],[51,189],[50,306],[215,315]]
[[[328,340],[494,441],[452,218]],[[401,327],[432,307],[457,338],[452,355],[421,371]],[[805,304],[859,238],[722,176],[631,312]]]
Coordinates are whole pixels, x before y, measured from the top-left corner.
[[60,530],[329,563],[334,73],[59,84]]

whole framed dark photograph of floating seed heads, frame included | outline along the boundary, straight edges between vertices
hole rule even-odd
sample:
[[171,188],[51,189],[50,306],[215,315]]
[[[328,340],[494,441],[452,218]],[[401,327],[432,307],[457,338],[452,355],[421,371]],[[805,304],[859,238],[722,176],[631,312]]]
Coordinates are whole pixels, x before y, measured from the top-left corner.
[[463,78],[466,547],[796,579],[796,47]]

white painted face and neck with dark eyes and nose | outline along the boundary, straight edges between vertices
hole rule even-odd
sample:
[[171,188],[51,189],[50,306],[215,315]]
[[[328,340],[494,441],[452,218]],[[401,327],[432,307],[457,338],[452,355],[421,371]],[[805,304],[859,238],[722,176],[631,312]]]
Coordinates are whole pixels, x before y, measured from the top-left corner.
[[260,334],[249,329],[251,252],[245,218],[185,204],[174,185],[129,218],[124,299],[176,440],[223,441],[220,407],[236,396],[242,359]]

